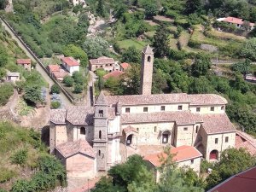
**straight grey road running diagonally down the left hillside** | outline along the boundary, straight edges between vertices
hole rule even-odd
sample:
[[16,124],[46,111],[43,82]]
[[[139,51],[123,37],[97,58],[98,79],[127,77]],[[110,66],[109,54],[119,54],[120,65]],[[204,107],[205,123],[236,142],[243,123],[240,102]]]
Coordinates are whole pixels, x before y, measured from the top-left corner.
[[[32,57],[32,55],[27,51],[27,49],[24,47],[23,44],[20,43],[20,40],[18,38],[15,37],[15,34],[9,30],[9,27],[5,25],[5,23],[3,22],[3,20],[1,20],[2,22],[2,26],[5,28],[5,30],[7,32],[9,32],[9,34],[12,36],[13,39],[15,39],[15,41],[18,43],[18,45],[20,46],[20,49],[23,49],[24,52],[26,53],[26,55],[32,59],[32,61],[36,62],[34,60],[34,58]],[[44,78],[44,80],[49,84],[49,87],[54,84],[53,80],[49,78],[48,74],[44,72],[44,69],[37,63],[37,66],[36,66],[36,70],[42,75],[42,77]],[[67,106],[70,106],[72,105],[72,102],[70,102],[67,97],[61,93],[60,94],[60,97],[61,97],[61,101],[63,103],[63,106],[64,107],[67,107]]]

